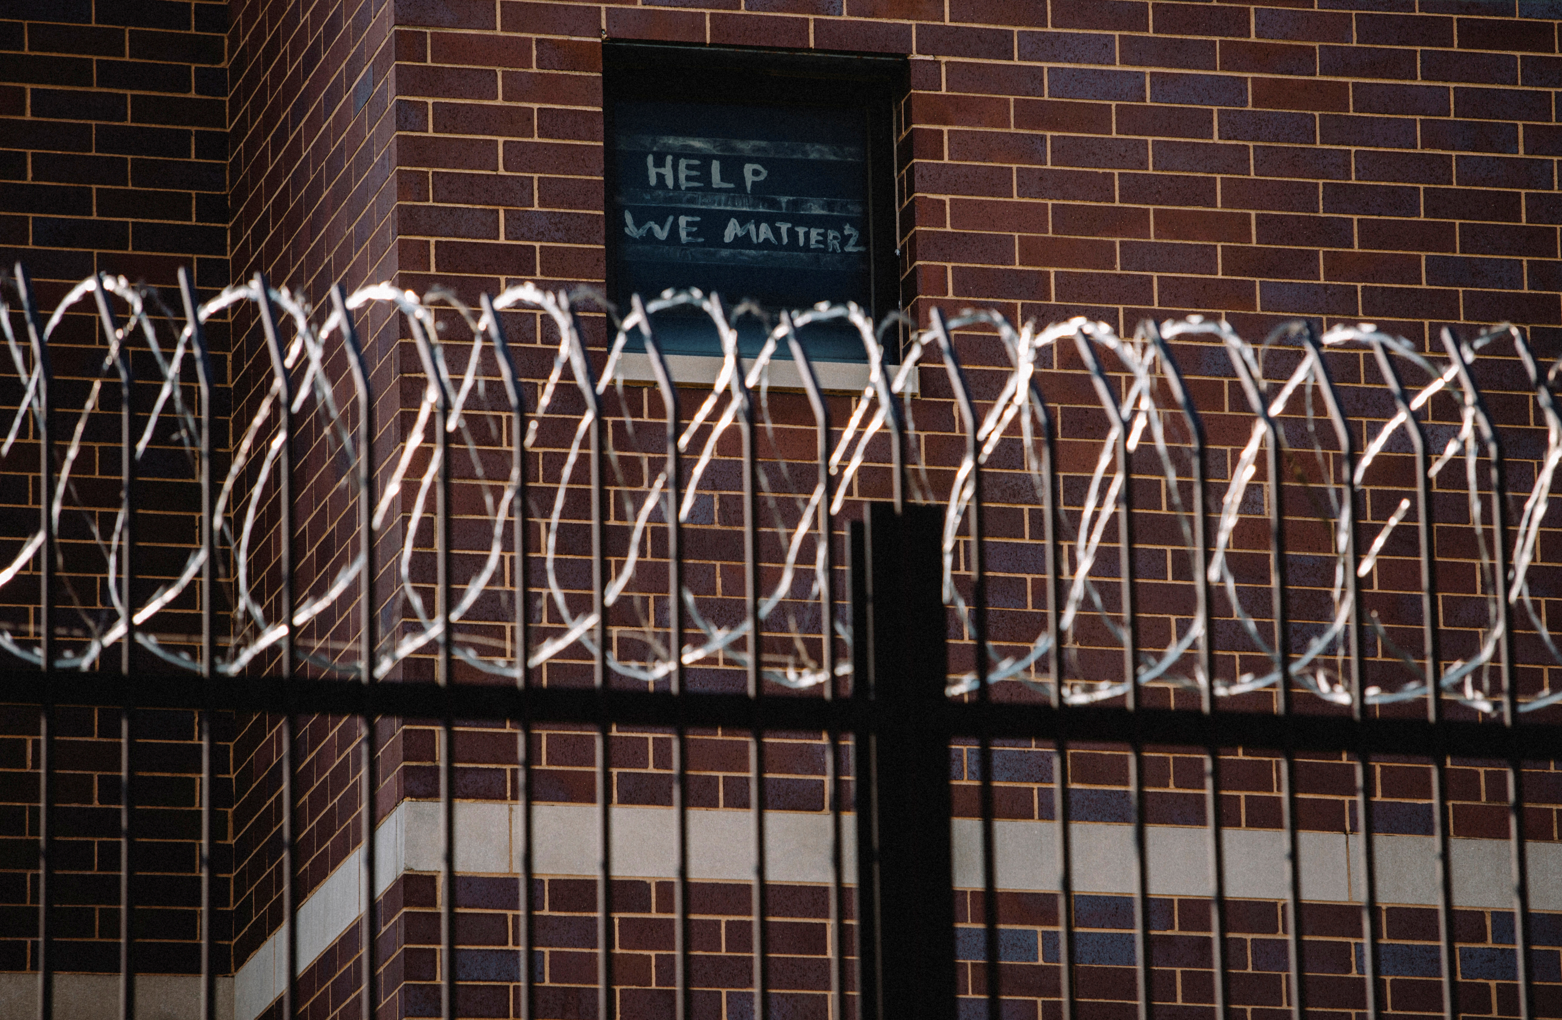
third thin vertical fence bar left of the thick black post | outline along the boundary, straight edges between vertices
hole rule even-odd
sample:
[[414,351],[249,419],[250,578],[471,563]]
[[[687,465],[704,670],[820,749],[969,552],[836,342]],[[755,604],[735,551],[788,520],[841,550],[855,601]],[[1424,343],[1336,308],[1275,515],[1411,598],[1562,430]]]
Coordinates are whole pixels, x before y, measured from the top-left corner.
[[672,675],[669,689],[678,698],[679,719],[673,725],[673,811],[678,814],[678,861],[673,875],[673,1017],[687,1020],[694,1015],[694,998],[689,995],[689,772],[684,759],[687,750],[687,734],[683,723],[684,695],[684,662],[683,662],[683,531],[678,522],[678,487],[683,464],[678,456],[678,387],[667,370],[667,359],[651,331],[650,317],[640,303],[640,295],[634,295],[633,317],[639,317],[640,334],[645,337],[645,355],[651,362],[651,373],[656,376],[656,391],[662,397],[662,414],[667,419],[667,645],[672,654]]

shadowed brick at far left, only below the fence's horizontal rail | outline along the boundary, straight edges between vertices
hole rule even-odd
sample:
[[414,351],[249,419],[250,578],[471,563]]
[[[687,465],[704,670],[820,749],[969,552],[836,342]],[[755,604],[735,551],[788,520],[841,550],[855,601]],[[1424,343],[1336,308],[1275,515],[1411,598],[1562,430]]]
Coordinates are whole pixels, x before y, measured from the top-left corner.
[[[0,972],[37,970],[37,833],[41,740],[37,715],[3,714],[0,817],[6,854]],[[136,842],[130,886],[136,914],[134,967],[150,975],[200,973],[200,739],[194,712],[139,711],[131,719]],[[69,706],[53,714],[55,967],[119,970],[120,712]],[[228,875],[233,719],[212,720],[214,965],[228,965]]]

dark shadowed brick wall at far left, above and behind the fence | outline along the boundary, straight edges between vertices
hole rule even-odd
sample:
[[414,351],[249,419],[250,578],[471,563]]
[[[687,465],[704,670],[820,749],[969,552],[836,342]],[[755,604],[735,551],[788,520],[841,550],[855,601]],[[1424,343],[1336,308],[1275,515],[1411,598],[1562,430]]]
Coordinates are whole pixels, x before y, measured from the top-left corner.
[[[50,0],[0,9],[0,266],[9,275],[16,261],[25,262],[41,309],[52,309],[70,284],[100,270],[173,287],[177,269],[187,266],[205,294],[228,283],[226,28],[226,3]],[[177,294],[170,297],[177,305]],[[86,378],[97,372],[95,358],[81,348],[102,347],[91,301],[80,311],[87,314],[69,316],[56,331],[55,392],[66,403],[80,400]],[[125,309],[117,311],[123,316]],[[222,323],[211,323],[209,342],[225,373]],[[17,397],[8,392],[8,406]],[[156,445],[164,439],[159,433]],[[117,484],[100,486],[105,476],[117,478],[117,425],[94,423],[70,503],[81,497],[87,508],[117,506]],[[100,444],[112,447],[102,465]],[[170,451],[153,450],[153,458],[164,453]],[[0,470],[11,473],[17,464],[36,462],[36,436],[28,428]],[[8,512],[23,501],[36,508],[36,481],[31,492],[14,483],[14,475],[0,483]],[[191,534],[186,492],[178,484],[156,489],[158,498],[147,506],[172,512],[144,517],[145,534],[159,528],[161,537]],[[91,573],[98,559],[92,539],[73,512],[67,511],[67,520],[66,573]],[[111,520],[111,511],[102,520]],[[137,587],[137,598],[178,570],[164,551],[173,553],[144,550],[148,587]],[[183,559],[183,553],[173,555]],[[105,594],[80,586],[80,580],[77,592],[87,611],[102,605]],[[36,583],[23,578],[23,586],[30,583],[36,598]],[[8,590],[8,612],[14,606],[9,597],[19,594]],[[192,605],[186,600],[177,611]],[[178,626],[191,617],[175,612],[170,620]],[[134,787],[139,809],[133,822],[139,837],[133,862],[141,876],[131,895],[144,908],[137,968],[198,973],[195,720],[187,712],[141,712],[131,731],[133,761],[145,772]],[[56,965],[109,972],[119,967],[119,712],[59,711],[55,733],[56,825],[62,834],[56,843],[55,889],[62,904],[56,912]],[[219,733],[231,737],[222,723]],[[8,715],[6,747],[6,867],[25,868],[36,862],[39,823],[36,806],[23,808],[36,804],[39,792],[36,715]],[[217,839],[225,840],[230,787],[223,748],[214,770],[214,825]],[[219,908],[226,903],[223,847],[219,843],[212,862]],[[36,931],[36,906],[28,906],[36,904],[36,887],[30,889],[23,875],[6,875],[5,970],[36,967],[36,939],[28,937]],[[16,879],[22,879],[19,886]],[[226,967],[226,912],[212,920],[219,965]]]

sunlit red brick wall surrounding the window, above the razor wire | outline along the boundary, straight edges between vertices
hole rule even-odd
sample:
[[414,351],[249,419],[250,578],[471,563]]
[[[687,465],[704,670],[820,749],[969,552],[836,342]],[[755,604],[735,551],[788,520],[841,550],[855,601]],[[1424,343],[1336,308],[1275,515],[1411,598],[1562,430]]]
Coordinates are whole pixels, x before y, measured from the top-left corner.
[[1562,323],[1537,5],[698,6],[398,5],[403,270],[600,281],[598,39],[670,39],[914,55],[918,309]]

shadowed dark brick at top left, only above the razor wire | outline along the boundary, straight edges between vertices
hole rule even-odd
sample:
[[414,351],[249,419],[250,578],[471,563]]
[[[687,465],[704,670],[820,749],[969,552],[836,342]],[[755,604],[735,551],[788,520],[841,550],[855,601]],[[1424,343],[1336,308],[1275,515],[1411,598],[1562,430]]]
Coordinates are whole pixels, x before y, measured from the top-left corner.
[[[228,283],[228,5],[16,3],[0,14],[0,258]],[[44,286],[44,303],[61,287]]]

